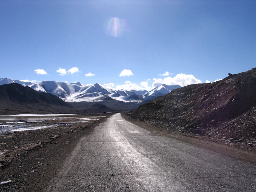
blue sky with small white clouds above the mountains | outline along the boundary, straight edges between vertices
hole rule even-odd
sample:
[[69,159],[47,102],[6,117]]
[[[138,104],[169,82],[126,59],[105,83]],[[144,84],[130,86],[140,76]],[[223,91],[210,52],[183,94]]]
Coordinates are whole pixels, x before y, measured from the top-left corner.
[[151,89],[256,67],[256,1],[0,0],[0,78]]

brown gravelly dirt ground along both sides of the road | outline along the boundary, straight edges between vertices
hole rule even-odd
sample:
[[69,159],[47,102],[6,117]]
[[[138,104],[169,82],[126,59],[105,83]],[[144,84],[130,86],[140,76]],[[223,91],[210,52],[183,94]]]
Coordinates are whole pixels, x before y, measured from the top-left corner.
[[[131,121],[125,115],[122,116]],[[106,118],[92,124],[76,123],[52,130],[39,129],[1,134],[0,147],[9,151],[1,155],[0,161],[3,166],[0,170],[0,183],[5,181],[9,181],[9,183],[0,185],[0,190],[3,192],[42,191],[70,155],[80,138],[90,134],[93,128],[105,121]],[[157,134],[256,165],[256,152],[253,147],[242,148],[243,146],[239,146],[239,144],[231,146],[206,137],[170,132],[150,124],[131,122]]]

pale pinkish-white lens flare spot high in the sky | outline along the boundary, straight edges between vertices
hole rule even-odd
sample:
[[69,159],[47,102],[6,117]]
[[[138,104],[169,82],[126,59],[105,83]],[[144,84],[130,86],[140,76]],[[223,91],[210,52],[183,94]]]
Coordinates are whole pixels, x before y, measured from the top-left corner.
[[121,37],[125,29],[126,27],[124,19],[112,17],[109,19],[106,26],[106,34],[113,37]]

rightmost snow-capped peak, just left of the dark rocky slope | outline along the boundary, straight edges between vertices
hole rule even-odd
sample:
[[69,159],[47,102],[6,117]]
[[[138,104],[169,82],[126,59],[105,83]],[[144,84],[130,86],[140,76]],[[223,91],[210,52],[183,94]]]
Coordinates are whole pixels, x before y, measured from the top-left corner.
[[179,85],[166,85],[161,84],[157,86],[156,88],[146,92],[145,94],[141,95],[141,97],[145,100],[152,100],[159,96],[165,95],[167,93],[170,93],[173,89],[180,88]]

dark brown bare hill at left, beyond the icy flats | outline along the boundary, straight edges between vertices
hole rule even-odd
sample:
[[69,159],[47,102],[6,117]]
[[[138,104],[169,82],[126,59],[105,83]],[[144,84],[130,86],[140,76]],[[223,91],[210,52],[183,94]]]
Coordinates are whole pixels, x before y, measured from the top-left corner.
[[69,103],[55,95],[39,93],[18,83],[0,86],[0,114],[17,113],[74,113]]

